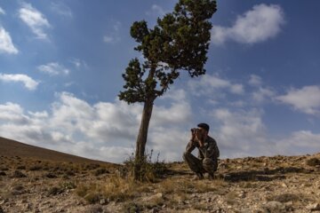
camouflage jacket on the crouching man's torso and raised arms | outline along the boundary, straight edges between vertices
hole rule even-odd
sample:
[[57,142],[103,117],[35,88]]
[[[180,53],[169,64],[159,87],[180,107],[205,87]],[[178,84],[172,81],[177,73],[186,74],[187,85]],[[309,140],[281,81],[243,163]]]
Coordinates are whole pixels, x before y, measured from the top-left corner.
[[200,147],[196,139],[194,141],[190,140],[186,147],[186,152],[191,153],[195,148],[199,149],[198,157],[200,159],[212,158],[212,160],[217,160],[220,156],[217,142],[210,136],[205,139],[204,146],[202,147]]

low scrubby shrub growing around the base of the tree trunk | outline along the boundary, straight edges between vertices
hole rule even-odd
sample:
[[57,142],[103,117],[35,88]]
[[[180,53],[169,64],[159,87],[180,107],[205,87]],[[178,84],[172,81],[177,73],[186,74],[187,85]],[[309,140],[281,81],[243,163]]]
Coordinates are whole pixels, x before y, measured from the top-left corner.
[[164,162],[159,162],[159,154],[157,155],[156,162],[152,162],[152,154],[153,150],[151,150],[150,154],[146,154],[139,160],[132,154],[132,156],[124,161],[124,166],[133,174],[133,171],[137,168],[137,165],[139,165],[140,176],[138,180],[156,182],[156,178],[163,177],[167,166]]

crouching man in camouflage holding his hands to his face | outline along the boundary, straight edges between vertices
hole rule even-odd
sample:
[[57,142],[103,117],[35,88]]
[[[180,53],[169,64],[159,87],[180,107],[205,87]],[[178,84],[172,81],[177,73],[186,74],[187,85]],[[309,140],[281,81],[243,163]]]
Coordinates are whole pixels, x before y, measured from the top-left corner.
[[[209,179],[212,179],[218,168],[219,148],[217,142],[208,135],[208,124],[199,123],[197,127],[191,129],[191,139],[183,154],[183,160],[188,163],[190,170],[196,173],[195,179],[203,179],[206,172]],[[195,148],[198,148],[198,157],[191,154]]]

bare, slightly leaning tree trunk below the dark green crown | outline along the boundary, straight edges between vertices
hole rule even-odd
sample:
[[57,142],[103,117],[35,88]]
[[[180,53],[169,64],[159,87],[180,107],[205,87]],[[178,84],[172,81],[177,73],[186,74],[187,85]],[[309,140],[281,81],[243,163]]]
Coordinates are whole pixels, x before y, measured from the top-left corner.
[[141,180],[141,163],[143,163],[145,157],[145,150],[148,138],[148,125],[151,119],[153,109],[153,100],[147,100],[144,103],[142,118],[140,122],[140,130],[136,142],[135,153],[135,167],[134,167],[134,179]]

